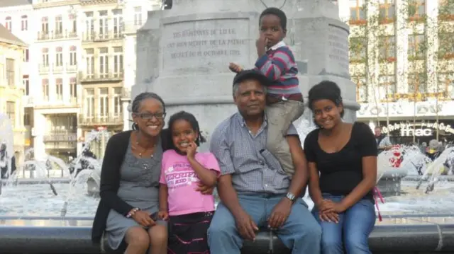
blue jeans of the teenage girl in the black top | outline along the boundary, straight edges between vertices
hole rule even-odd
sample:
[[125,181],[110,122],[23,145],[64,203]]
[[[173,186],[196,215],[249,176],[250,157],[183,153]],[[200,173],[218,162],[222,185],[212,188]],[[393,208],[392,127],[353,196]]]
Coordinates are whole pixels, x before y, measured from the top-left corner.
[[[323,194],[323,198],[334,202],[341,202],[343,197]],[[368,241],[375,225],[375,207],[371,200],[360,200],[339,214],[337,224],[320,221],[316,207],[312,214],[321,225],[322,254],[371,254]]]

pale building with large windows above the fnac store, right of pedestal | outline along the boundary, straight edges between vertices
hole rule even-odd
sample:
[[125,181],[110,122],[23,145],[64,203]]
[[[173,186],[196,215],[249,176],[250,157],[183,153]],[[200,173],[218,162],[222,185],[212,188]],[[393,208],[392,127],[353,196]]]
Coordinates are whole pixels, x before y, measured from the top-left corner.
[[338,6],[350,25],[358,120],[383,126],[399,143],[454,140],[454,2],[338,0]]

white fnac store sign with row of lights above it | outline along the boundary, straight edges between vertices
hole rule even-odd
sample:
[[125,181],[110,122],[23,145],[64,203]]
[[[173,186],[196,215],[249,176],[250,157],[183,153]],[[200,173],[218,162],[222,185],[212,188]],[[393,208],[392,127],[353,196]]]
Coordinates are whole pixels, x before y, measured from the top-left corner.
[[451,125],[445,125],[443,122],[399,122],[394,125],[384,126],[382,132],[387,134],[389,132],[400,130],[401,136],[432,136],[433,131],[439,129],[450,134],[454,134],[454,129]]

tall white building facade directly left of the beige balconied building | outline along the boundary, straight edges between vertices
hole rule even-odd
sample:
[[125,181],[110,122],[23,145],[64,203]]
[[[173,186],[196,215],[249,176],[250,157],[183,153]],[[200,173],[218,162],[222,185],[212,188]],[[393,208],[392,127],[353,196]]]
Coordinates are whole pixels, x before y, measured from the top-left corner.
[[35,157],[46,154],[67,161],[77,156],[77,114],[82,100],[77,81],[81,62],[79,1],[33,1],[34,42],[31,105]]

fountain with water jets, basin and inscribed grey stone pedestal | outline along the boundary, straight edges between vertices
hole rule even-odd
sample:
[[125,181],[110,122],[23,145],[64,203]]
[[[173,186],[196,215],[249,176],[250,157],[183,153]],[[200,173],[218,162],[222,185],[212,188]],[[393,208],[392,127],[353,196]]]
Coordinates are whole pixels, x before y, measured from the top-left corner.
[[[339,20],[336,5],[327,0],[174,0],[172,10],[150,12],[138,30],[137,85],[132,97],[154,91],[164,98],[169,114],[182,108],[194,112],[201,129],[210,134],[235,110],[233,74],[227,64],[253,66],[258,15],[264,5],[282,6],[289,17],[286,40],[297,57],[301,90],[307,93],[323,79],[336,81],[345,97],[345,121],[353,122],[358,104],[348,75],[348,26]],[[6,121],[0,114],[0,141],[13,137]],[[301,139],[314,129],[309,110],[297,126]],[[103,135],[90,134],[83,150],[88,151],[90,140]],[[8,154],[13,154],[12,144],[6,140]],[[101,158],[86,156],[84,151],[70,165],[48,156],[45,161],[26,161],[9,174],[0,196],[0,253],[108,251],[105,241],[99,246],[90,239],[99,202]],[[454,154],[446,151],[445,161],[432,163],[411,146],[396,151],[400,154],[389,151],[378,158],[378,186],[387,198],[380,205],[383,221],[377,222],[370,236],[373,253],[454,251],[446,241],[454,236],[454,199],[450,198],[454,185],[436,171],[443,163],[453,164]],[[426,179],[431,186],[426,187],[428,193],[416,188]],[[50,183],[58,195],[49,190]],[[314,205],[308,195],[304,200],[309,207]],[[267,253],[270,241],[273,253],[288,253],[275,236],[265,232],[258,234],[255,243],[246,242],[243,252]]]

